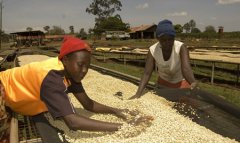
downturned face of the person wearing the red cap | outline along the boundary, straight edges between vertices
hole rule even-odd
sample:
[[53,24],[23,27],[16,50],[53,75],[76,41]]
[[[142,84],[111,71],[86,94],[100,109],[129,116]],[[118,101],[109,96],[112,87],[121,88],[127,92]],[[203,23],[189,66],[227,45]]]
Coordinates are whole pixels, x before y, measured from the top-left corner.
[[63,57],[63,65],[68,76],[75,82],[80,82],[88,72],[91,54],[82,50]]

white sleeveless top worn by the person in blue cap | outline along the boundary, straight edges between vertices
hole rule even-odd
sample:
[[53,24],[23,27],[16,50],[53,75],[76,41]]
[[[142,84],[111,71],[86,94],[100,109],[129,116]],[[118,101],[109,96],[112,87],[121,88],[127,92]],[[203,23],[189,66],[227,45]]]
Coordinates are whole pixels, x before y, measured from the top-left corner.
[[168,61],[164,61],[161,44],[159,42],[149,48],[155,59],[159,76],[170,83],[177,83],[184,79],[180,59],[180,49],[182,45],[182,42],[174,41],[172,53]]

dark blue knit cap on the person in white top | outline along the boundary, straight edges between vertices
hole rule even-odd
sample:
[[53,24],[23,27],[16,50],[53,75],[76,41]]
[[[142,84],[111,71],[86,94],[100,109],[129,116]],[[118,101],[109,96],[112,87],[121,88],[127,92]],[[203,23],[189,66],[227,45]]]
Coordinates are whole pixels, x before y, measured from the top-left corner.
[[160,37],[165,34],[171,35],[171,36],[176,36],[176,32],[172,25],[172,22],[167,19],[160,21],[157,25],[157,30],[156,30],[157,37]]

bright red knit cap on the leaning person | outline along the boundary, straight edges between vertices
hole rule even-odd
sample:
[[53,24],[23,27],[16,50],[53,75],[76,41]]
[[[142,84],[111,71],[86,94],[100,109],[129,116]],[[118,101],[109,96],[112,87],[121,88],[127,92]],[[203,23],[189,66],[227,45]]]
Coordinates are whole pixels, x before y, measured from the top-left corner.
[[64,36],[58,59],[61,60],[65,55],[79,50],[91,51],[91,48],[85,41],[79,38]]

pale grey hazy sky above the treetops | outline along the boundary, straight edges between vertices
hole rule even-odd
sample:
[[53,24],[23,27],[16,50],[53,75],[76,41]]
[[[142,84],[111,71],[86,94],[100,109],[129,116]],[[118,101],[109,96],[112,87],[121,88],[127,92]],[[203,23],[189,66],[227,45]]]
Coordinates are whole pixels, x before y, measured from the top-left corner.
[[[69,32],[94,26],[94,16],[85,12],[92,0],[3,0],[3,25],[6,33],[43,30],[48,25]],[[195,20],[201,31],[206,26],[223,26],[224,31],[240,31],[240,0],[121,0],[123,21],[131,27],[157,24],[169,19],[174,24]]]

